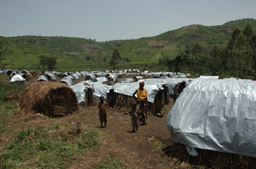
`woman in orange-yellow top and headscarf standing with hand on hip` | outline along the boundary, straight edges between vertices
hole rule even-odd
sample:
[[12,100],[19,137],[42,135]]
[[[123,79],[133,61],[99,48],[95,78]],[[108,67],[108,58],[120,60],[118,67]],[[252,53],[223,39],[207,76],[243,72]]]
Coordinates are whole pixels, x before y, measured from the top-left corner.
[[[148,117],[148,101],[147,101],[147,91],[144,89],[145,82],[140,82],[140,87],[132,94],[133,98],[137,99],[137,104],[140,105],[141,115],[139,120],[145,124],[145,120]],[[137,94],[137,98],[136,95]]]

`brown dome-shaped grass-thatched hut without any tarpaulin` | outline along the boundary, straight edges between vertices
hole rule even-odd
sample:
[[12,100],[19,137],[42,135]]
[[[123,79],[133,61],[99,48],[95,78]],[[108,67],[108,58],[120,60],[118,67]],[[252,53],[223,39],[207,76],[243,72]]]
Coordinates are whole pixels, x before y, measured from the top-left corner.
[[21,112],[37,112],[47,116],[66,116],[78,109],[76,93],[59,82],[34,82],[24,89]]

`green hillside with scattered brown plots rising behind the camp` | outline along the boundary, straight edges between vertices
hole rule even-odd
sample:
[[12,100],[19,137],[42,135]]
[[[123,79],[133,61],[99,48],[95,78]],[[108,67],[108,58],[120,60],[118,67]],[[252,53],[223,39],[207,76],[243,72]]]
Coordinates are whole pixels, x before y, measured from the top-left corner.
[[167,66],[158,64],[159,59],[175,58],[185,49],[192,51],[195,43],[201,45],[202,53],[210,53],[215,47],[224,48],[233,30],[236,27],[243,30],[246,23],[251,23],[256,31],[255,19],[239,19],[219,26],[189,25],[137,40],[98,42],[63,36],[2,37],[5,51],[2,69],[40,70],[38,57],[46,55],[57,57],[57,71],[108,70],[111,69],[108,62],[117,48],[123,58],[118,69],[167,71]]

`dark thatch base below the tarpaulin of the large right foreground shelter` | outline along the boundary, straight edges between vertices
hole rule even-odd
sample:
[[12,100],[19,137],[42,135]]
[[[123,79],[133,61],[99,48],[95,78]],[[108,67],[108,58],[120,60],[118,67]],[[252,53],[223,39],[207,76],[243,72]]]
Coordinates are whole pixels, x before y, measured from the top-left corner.
[[256,158],[212,150],[198,150],[199,155],[193,157],[180,143],[174,143],[164,148],[163,152],[171,158],[176,158],[180,163],[202,165],[210,168],[256,168]]

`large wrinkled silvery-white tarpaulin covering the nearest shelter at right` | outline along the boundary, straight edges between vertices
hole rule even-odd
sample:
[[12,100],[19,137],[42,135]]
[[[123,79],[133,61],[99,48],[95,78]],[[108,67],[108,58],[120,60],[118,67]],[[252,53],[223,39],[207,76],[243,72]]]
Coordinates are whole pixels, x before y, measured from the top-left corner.
[[193,80],[168,113],[167,128],[174,141],[187,150],[198,148],[256,158],[256,82]]

